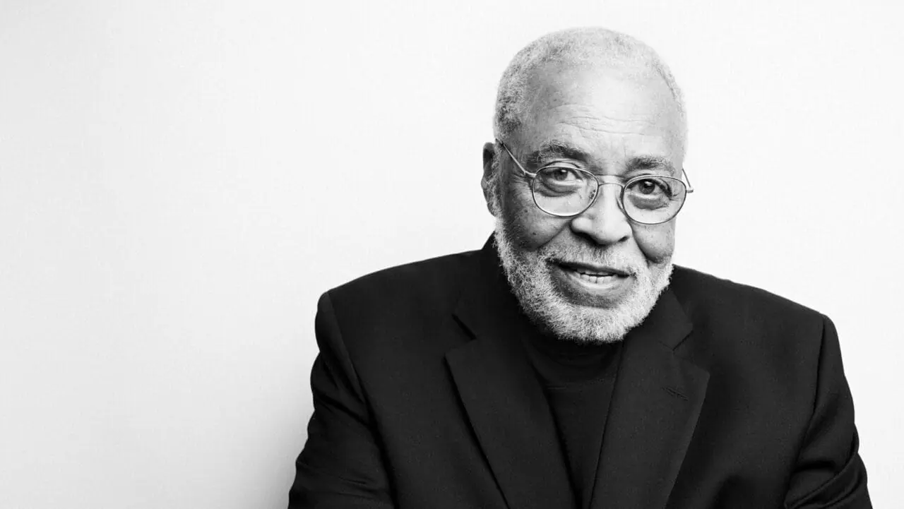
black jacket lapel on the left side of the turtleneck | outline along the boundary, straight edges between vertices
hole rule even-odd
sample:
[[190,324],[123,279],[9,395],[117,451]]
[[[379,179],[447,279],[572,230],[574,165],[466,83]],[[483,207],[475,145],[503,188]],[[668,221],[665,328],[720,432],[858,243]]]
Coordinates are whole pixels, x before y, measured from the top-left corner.
[[476,438],[509,507],[574,507],[549,404],[520,335],[530,334],[489,243],[456,310],[474,339],[446,354]]

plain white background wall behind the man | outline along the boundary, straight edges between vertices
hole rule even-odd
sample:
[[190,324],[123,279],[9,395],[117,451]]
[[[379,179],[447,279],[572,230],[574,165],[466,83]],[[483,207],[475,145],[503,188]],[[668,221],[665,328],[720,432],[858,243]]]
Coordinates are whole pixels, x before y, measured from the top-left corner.
[[904,505],[899,2],[383,4],[0,0],[0,507],[284,507],[316,298],[482,245],[496,82],[586,24],[685,91],[676,260],[833,318]]

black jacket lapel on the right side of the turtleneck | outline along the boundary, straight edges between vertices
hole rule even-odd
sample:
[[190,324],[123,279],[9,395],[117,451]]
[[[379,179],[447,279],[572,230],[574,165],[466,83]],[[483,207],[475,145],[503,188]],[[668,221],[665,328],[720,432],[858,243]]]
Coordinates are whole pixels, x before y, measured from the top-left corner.
[[591,509],[664,507],[700,415],[709,372],[673,349],[691,323],[665,290],[625,338]]

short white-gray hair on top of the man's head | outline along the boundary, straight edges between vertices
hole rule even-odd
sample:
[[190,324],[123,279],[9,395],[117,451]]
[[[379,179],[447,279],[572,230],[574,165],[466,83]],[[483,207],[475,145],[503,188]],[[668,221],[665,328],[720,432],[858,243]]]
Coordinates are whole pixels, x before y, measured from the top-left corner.
[[684,100],[672,71],[653,48],[630,35],[599,27],[570,28],[543,35],[518,52],[499,80],[494,115],[494,135],[503,139],[521,127],[532,100],[532,74],[548,63],[611,65],[631,71],[654,72],[665,80],[678,107],[682,153],[687,138]]

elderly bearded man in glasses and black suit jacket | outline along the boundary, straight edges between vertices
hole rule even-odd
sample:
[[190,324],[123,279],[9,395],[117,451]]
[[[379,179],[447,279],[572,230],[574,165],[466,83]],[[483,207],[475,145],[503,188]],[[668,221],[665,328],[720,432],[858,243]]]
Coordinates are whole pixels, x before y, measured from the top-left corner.
[[825,316],[673,267],[681,93],[603,29],[504,72],[483,250],[327,292],[289,505],[870,507]]

